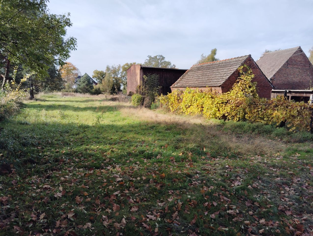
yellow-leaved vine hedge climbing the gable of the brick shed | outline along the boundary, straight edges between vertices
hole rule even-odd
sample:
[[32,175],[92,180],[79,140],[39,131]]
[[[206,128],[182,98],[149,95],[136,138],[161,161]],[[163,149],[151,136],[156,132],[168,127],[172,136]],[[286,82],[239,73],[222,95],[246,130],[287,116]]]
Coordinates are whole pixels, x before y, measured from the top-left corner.
[[289,102],[284,97],[273,100],[260,98],[256,83],[252,82],[254,75],[251,69],[244,65],[238,70],[241,76],[229,92],[218,94],[187,88],[184,92],[174,91],[161,96],[160,102],[175,113],[202,113],[206,118],[276,126],[286,123],[289,131],[310,130],[312,106],[304,102]]

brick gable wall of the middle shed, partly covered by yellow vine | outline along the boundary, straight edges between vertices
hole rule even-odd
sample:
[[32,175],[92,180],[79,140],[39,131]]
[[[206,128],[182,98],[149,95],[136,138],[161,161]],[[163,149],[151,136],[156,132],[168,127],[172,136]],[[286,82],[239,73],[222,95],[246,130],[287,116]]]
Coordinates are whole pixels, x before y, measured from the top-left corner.
[[[253,82],[257,82],[257,91],[260,97],[271,98],[271,91],[273,87],[264,76],[262,71],[256,65],[254,60],[251,57],[248,57],[243,64],[249,66],[254,74]],[[222,84],[222,92],[228,92],[232,87],[235,81],[239,77],[239,72],[236,70],[231,76],[229,76],[228,80],[226,80]]]

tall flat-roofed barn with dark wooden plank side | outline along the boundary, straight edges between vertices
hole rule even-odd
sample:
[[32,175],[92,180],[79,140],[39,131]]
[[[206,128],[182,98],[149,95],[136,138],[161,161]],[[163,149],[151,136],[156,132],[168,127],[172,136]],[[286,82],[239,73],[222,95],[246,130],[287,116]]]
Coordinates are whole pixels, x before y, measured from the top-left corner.
[[159,93],[166,95],[168,92],[172,92],[172,84],[186,71],[183,69],[132,65],[127,69],[127,94],[136,92],[136,88],[143,82],[144,75],[156,74],[159,75],[159,86],[161,87]]

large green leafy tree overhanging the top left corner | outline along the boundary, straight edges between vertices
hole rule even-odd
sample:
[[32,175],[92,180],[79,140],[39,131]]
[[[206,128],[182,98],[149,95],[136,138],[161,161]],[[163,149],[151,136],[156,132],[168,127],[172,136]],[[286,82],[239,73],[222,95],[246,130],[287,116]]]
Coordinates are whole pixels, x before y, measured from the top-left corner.
[[48,76],[51,65],[64,65],[76,39],[66,35],[72,26],[69,14],[48,12],[45,0],[0,0],[0,55],[5,73],[1,89],[8,79],[10,63],[23,64],[38,75]]

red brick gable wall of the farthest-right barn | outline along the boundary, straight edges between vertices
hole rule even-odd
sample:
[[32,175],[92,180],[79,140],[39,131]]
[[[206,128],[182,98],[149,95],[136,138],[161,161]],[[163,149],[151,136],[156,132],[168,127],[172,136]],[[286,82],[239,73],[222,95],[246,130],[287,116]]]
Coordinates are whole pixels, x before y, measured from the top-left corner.
[[313,82],[313,66],[302,50],[297,50],[271,78],[277,89],[308,89],[310,81]]

